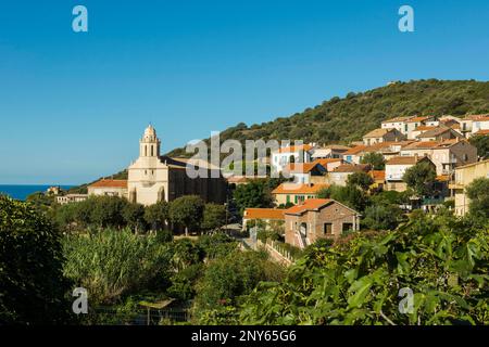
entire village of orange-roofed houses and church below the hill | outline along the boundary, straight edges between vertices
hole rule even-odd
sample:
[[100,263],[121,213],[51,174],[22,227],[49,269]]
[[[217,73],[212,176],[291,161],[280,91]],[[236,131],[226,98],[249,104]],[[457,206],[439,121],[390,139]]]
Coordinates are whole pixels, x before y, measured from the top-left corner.
[[[287,179],[272,187],[272,203],[267,207],[241,204],[238,228],[251,231],[249,245],[256,247],[256,242],[260,243],[256,232],[273,226],[291,246],[278,247],[285,255],[283,260],[289,261],[290,252],[284,249],[304,248],[318,239],[335,240],[361,229],[363,211],[327,193],[331,187],[347,187],[353,178],[366,182],[367,194],[409,193],[399,204],[404,214],[414,209],[434,211],[443,205],[456,216],[464,216],[469,206],[465,188],[477,178],[489,177],[489,160],[481,158],[484,153],[477,153],[469,139],[487,136],[489,115],[411,116],[385,120],[378,129],[365,133],[363,141],[350,145],[283,146],[272,152],[266,163],[268,172]],[[128,167],[127,180],[101,179],[88,185],[85,194],[63,194],[55,187],[49,193],[55,195],[59,204],[82,202],[90,195],[109,195],[146,206],[199,195],[205,202],[225,204],[228,208],[236,189],[266,179],[236,175],[190,179],[185,172],[188,159],[160,155],[160,139],[152,126],[145,130],[139,146],[139,158]],[[209,163],[203,166],[209,170],[218,169]],[[434,172],[432,182],[426,182],[430,189],[425,194],[409,191],[405,174],[415,166]]]

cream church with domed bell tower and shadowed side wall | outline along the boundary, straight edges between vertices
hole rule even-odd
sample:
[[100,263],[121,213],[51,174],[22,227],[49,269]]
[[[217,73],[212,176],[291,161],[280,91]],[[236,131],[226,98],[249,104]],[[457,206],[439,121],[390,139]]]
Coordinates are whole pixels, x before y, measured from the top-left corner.
[[[129,202],[152,205],[160,201],[171,202],[183,195],[199,195],[204,202],[223,204],[227,183],[209,171],[208,178],[187,176],[186,159],[160,155],[160,139],[149,126],[139,140],[139,157],[127,169],[127,198]],[[217,169],[210,168],[205,169]]]

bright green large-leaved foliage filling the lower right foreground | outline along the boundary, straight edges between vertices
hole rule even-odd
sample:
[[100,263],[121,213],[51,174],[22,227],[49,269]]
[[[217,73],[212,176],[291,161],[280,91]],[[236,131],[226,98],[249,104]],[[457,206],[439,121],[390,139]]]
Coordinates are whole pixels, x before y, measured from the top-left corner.
[[[241,324],[488,324],[487,219],[417,217],[393,232],[358,233],[262,283]],[[401,288],[413,311],[401,312]]]

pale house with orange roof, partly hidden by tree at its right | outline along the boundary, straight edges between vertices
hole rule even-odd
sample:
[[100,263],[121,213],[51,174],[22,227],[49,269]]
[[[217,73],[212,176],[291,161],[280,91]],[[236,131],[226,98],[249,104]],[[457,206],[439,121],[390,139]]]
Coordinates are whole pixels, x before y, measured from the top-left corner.
[[404,192],[408,189],[406,183],[403,181],[405,171],[416,165],[419,162],[427,162],[432,165],[435,169],[435,164],[426,156],[397,156],[391,158],[386,163],[386,190]]

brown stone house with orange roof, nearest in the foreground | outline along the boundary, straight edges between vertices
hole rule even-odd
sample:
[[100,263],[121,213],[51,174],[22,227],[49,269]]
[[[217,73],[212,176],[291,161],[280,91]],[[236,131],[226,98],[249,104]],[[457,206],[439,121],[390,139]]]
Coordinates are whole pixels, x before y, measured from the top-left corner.
[[286,243],[304,248],[360,229],[360,214],[329,198],[311,198],[285,210]]

